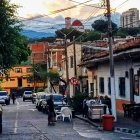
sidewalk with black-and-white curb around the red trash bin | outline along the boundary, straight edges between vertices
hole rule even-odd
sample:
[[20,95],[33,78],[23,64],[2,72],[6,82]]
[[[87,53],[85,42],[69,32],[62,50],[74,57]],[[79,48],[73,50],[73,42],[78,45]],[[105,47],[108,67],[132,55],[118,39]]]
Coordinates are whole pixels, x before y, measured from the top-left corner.
[[[82,115],[76,115],[75,117],[97,128],[102,127],[102,122],[99,120],[90,120],[84,118]],[[117,113],[117,122],[114,123],[114,132],[131,133],[140,136],[140,119],[138,121],[133,121],[132,118],[125,118],[123,113]]]

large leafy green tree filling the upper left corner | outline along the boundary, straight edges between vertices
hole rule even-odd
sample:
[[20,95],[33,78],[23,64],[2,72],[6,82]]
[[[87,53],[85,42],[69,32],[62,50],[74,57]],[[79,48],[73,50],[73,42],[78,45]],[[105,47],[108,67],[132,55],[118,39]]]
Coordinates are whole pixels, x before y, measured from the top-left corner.
[[16,18],[18,6],[10,0],[0,0],[0,65],[9,69],[30,55],[27,39],[21,35],[21,23]]

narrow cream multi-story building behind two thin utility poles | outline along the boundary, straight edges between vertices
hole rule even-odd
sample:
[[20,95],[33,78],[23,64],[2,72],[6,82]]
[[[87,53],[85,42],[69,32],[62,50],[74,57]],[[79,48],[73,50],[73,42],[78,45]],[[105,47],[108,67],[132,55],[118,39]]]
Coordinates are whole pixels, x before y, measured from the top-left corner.
[[[69,80],[69,93],[72,97],[76,92],[78,92],[78,88],[80,85],[79,76],[81,76],[82,70],[81,67],[78,66],[81,63],[81,44],[75,44],[75,54],[74,55],[74,44],[69,44],[67,46],[67,63],[68,63],[68,80]],[[75,60],[74,60],[75,59]],[[76,62],[76,64],[75,64]],[[66,80],[66,59],[65,55],[63,55],[62,60],[62,78]],[[76,79],[76,85],[72,82],[72,79]]]

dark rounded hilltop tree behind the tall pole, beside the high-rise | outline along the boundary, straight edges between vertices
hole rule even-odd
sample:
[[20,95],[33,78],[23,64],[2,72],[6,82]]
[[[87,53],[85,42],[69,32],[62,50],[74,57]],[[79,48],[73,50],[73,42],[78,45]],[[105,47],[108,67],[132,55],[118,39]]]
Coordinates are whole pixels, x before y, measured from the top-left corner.
[[[106,33],[108,31],[108,21],[105,20],[96,20],[92,25],[95,31]],[[117,32],[117,25],[112,22],[112,31],[113,33]]]

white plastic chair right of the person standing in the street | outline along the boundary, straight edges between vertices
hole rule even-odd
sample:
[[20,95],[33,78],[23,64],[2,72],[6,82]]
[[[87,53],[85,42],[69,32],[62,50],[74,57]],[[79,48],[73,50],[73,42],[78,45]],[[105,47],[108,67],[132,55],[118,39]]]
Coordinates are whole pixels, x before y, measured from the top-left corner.
[[65,118],[69,118],[70,122],[72,120],[72,111],[68,107],[62,107],[61,108],[61,115],[62,115],[62,120],[64,121]]

